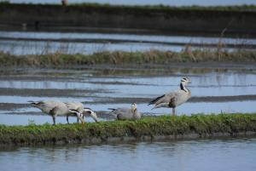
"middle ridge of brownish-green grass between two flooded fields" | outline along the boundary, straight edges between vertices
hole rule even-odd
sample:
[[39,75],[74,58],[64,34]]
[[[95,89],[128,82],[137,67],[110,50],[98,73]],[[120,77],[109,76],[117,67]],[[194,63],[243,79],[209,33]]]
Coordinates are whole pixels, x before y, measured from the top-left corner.
[[73,66],[97,64],[171,64],[172,62],[255,62],[256,51],[217,52],[195,50],[171,52],[101,52],[96,54],[38,54],[12,55],[0,53],[0,66]]

